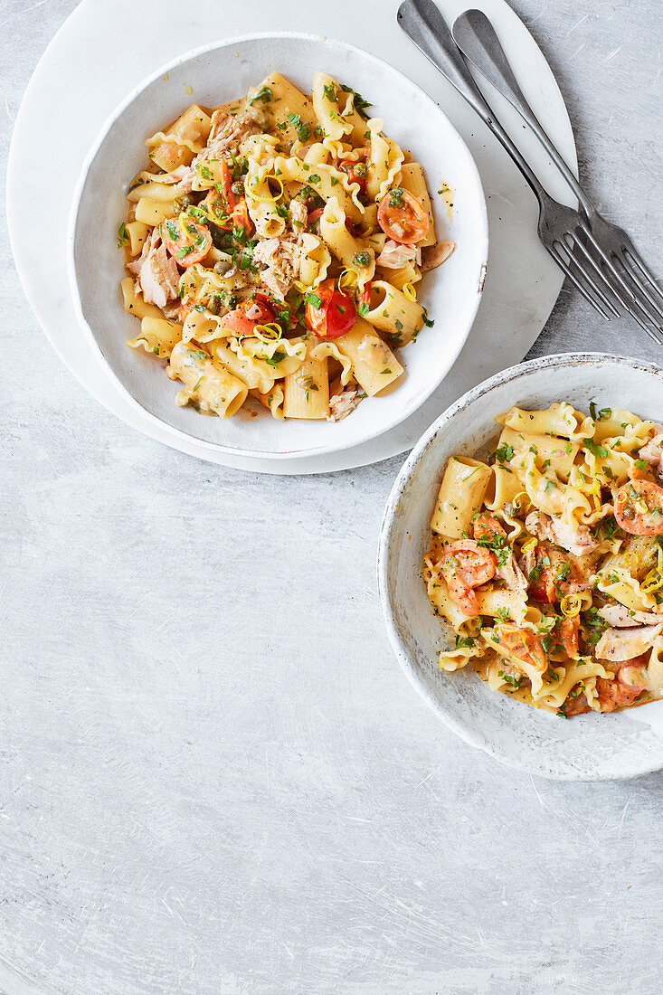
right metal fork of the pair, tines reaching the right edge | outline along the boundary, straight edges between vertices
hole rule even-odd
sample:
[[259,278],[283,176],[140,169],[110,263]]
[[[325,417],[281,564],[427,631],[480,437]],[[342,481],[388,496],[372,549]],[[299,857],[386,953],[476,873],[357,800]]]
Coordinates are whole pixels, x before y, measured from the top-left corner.
[[[662,331],[663,292],[654,276],[636,252],[633,243],[623,229],[602,218],[586,193],[575,179],[552,140],[537,119],[532,107],[518,85],[509,60],[500,44],[495,28],[481,10],[467,10],[454,22],[453,39],[469,62],[518,110],[542,143],[552,162],[577,197],[590,232],[587,240],[598,255],[601,266],[615,297],[624,309],[656,341],[661,341],[658,332]],[[582,252],[586,250],[580,246]]]

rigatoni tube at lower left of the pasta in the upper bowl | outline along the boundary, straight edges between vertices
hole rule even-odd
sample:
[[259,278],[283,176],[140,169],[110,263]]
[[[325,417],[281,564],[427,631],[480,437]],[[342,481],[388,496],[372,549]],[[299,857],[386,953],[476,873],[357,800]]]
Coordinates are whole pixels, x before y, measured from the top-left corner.
[[191,401],[219,418],[230,418],[239,411],[249,393],[246,384],[214,362],[208,352],[186,342],[174,346],[166,374],[185,385],[175,398],[176,404],[184,406]]

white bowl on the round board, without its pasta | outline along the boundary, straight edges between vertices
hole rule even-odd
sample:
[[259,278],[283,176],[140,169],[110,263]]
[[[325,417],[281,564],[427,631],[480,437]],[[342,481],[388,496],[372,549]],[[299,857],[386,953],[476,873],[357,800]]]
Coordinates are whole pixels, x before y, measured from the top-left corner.
[[[194,101],[214,105],[245,94],[278,69],[303,90],[325,70],[366,100],[384,118],[390,135],[420,159],[432,192],[437,230],[456,242],[444,266],[426,275],[421,300],[435,319],[403,350],[406,374],[397,389],[367,398],[343,421],[275,421],[267,412],[230,419],[203,418],[177,408],[178,385],[164,363],[124,339],[135,318],[121,306],[125,276],[115,233],[125,217],[127,182],[146,161],[144,139]],[[449,220],[437,190],[454,193]],[[374,438],[407,418],[437,387],[467,338],[479,306],[488,255],[488,222],[481,180],[466,145],[444,113],[418,87],[354,46],[312,35],[283,33],[216,42],[186,53],[146,80],[110,116],[83,167],[74,196],[69,270],[75,305],[85,331],[99,348],[131,402],[171,432],[217,452],[285,459],[331,453]],[[181,386],[181,385],[179,385]]]

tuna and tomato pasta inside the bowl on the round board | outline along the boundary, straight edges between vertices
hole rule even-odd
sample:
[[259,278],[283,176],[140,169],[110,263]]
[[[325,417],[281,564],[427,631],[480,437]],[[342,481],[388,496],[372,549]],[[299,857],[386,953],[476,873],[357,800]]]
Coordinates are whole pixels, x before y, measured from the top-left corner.
[[147,139],[118,232],[126,344],[167,360],[176,404],[338,421],[402,376],[396,353],[433,324],[417,284],[454,246],[368,106],[325,73],[311,97],[273,73]]

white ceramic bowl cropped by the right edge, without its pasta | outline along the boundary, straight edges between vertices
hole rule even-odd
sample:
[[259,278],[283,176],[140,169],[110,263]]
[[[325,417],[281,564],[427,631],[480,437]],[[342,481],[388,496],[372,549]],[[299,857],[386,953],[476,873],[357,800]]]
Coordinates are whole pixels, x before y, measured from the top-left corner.
[[421,579],[430,517],[447,460],[481,451],[495,415],[566,400],[581,411],[619,407],[663,420],[663,370],[601,353],[552,355],[499,373],[438,418],[412,451],[387,502],[378,552],[380,603],[405,674],[455,732],[512,767],[564,780],[616,780],[663,767],[663,701],[571,719],[491,692],[474,672],[445,673],[444,645]]

